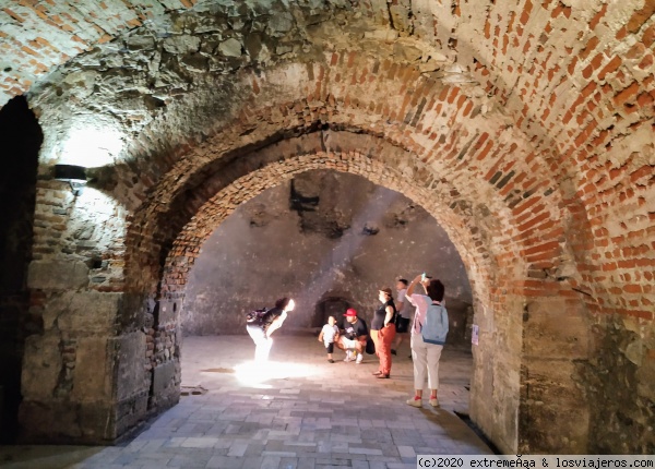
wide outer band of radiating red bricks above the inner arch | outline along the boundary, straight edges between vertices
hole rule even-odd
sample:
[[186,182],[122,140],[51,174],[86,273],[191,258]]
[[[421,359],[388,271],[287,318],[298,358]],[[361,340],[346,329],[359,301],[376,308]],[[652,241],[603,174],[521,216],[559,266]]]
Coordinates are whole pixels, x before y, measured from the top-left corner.
[[[290,75],[296,82],[285,83]],[[583,240],[585,249],[590,244],[593,249],[584,206],[579,206],[580,213],[569,213],[570,204],[563,202],[543,155],[515,131],[507,116],[484,110],[489,103],[475,85],[443,83],[425,76],[414,65],[354,51],[331,53],[325,62],[305,68],[291,63],[265,74],[245,72],[239,81],[250,89],[250,96],[231,120],[227,120],[230,116],[217,117],[212,137],[170,158],[168,172],[151,188],[145,208],[134,218],[138,226],[153,216],[146,215],[148,211],[158,212],[168,224],[169,204],[181,204],[175,212],[191,218],[198,204],[186,206],[186,194],[194,192],[196,202],[206,197],[196,192],[209,175],[271,142],[329,127],[370,135],[360,148],[376,148],[377,141],[405,148],[413,156],[397,161],[402,171],[448,181],[451,209],[463,219],[478,212],[485,214],[488,226],[473,228],[477,241],[472,252],[490,256],[491,263],[499,258],[526,261],[523,272],[511,276],[515,281],[499,286],[499,291],[539,296],[546,289],[548,294],[560,290],[571,294],[571,285],[562,284],[562,279],[592,291],[581,287],[576,272],[576,264],[586,255],[572,244]],[[200,192],[213,190],[210,185]],[[160,204],[159,197],[167,202]],[[568,239],[562,223],[573,216],[580,220],[579,232]],[[166,246],[172,245],[175,236],[170,232],[157,237]],[[159,275],[154,273],[153,278]],[[549,285],[544,285],[545,278]],[[585,294],[585,300],[595,302],[593,294]]]

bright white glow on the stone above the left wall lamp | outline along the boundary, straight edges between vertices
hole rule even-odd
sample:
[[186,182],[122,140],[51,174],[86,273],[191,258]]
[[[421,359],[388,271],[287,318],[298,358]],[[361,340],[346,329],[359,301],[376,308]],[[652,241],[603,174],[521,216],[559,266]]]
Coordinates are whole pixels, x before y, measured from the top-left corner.
[[74,124],[61,148],[61,163],[86,168],[114,164],[123,147],[122,133],[106,122]]

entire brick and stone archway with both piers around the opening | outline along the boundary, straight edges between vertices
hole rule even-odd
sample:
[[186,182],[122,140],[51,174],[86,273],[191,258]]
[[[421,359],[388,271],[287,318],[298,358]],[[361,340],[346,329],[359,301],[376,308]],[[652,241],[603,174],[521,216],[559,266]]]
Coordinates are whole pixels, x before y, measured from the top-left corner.
[[[175,34],[127,34],[119,65],[109,45],[32,88],[37,212],[60,199],[70,220],[46,217],[35,234],[46,255],[29,287],[46,326],[24,359],[28,437],[63,420],[63,440],[114,440],[175,402],[171,337],[194,251],[235,204],[326,167],[421,201],[457,245],[492,350],[476,354],[472,408],[501,447],[652,447],[652,11],[464,3],[417,9],[409,25],[407,8],[371,4],[278,5],[270,25],[200,10],[163,26]],[[543,31],[580,40],[564,53]],[[51,164],[85,123],[115,137],[111,160],[93,171],[98,192],[71,202]],[[100,321],[67,313],[88,303]],[[103,377],[85,380],[98,362]],[[629,410],[624,395],[640,396]],[[634,442],[615,441],[628,420],[608,421],[608,407],[632,416]]]

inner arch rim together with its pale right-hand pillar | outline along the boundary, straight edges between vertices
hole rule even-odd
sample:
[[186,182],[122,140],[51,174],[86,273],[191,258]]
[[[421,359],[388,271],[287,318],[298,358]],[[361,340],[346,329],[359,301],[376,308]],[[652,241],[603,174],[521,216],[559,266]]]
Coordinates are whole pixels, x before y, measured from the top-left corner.
[[[184,209],[180,209],[179,204],[175,204],[176,213],[194,213],[193,218],[188,225],[181,230],[178,238],[172,243],[172,249],[168,255],[166,267],[164,270],[164,279],[162,284],[160,296],[166,299],[165,306],[170,310],[170,304],[181,304],[183,302],[183,288],[186,284],[186,276],[189,273],[192,263],[198,255],[200,246],[203,241],[212,232],[213,228],[217,223],[224,219],[234,207],[245,202],[253,194],[263,191],[267,187],[274,185],[281,179],[290,178],[294,173],[306,169],[314,168],[334,168],[338,170],[346,170],[354,173],[359,173],[376,183],[383,184],[390,189],[402,191],[404,194],[412,196],[416,201],[420,201],[428,211],[436,217],[445,220],[446,227],[451,231],[454,228],[466,226],[465,223],[458,219],[457,214],[449,214],[448,206],[452,205],[452,201],[442,197],[448,197],[445,194],[451,194],[451,190],[443,188],[442,191],[434,191],[430,184],[432,181],[427,178],[424,183],[427,187],[420,187],[420,179],[416,178],[415,175],[401,175],[394,168],[403,166],[403,157],[412,158],[412,155],[407,152],[403,152],[397,147],[390,146],[389,144],[380,141],[379,139],[371,137],[362,134],[352,134],[349,132],[321,130],[321,135],[307,134],[298,137],[290,137],[286,141],[270,145],[265,148],[253,152],[249,156],[245,156],[242,159],[248,161],[237,163],[238,168],[234,170],[225,168],[221,172],[221,177],[216,180],[205,181],[205,184],[212,187],[212,190],[193,191],[193,199],[187,201],[188,204],[192,204],[193,208],[186,205]],[[343,135],[343,136],[342,136]],[[323,143],[319,141],[323,140]],[[331,145],[340,147],[340,152],[331,152]],[[352,145],[350,147],[348,145]],[[325,147],[325,152],[314,153],[314,148]],[[361,155],[356,148],[371,148],[369,155]],[[336,153],[336,154],[335,154]],[[389,158],[384,160],[383,158]],[[382,161],[380,161],[382,159]],[[269,163],[267,161],[273,161]],[[246,168],[261,168],[253,171],[252,173],[246,172]],[[243,171],[246,169],[246,171]],[[246,172],[243,176],[242,172]],[[226,173],[234,175],[234,182],[229,183],[224,189],[219,189],[219,184],[225,185],[226,181],[223,179]],[[418,181],[418,182],[417,182]],[[205,187],[206,187],[205,185]],[[441,184],[445,185],[444,183]],[[199,201],[199,193],[216,193],[216,195],[210,197],[206,202]],[[431,201],[427,203],[426,201]],[[457,205],[455,204],[455,207]],[[167,229],[172,226],[170,214],[166,214],[163,219],[166,220]],[[471,223],[471,220],[467,220]],[[139,227],[147,226],[147,223],[140,221]],[[163,227],[162,227],[163,228]],[[473,230],[475,231],[475,230]],[[463,239],[463,234],[454,231],[457,240]],[[145,237],[144,237],[145,238]],[[162,234],[150,234],[148,238],[162,239]],[[489,257],[488,252],[481,252],[472,248],[474,243],[468,241],[466,244],[458,244],[465,263],[468,266],[469,276],[472,278],[472,286],[474,288],[475,303],[481,311],[476,312],[476,322],[483,327],[483,344],[476,353],[476,360],[478,361],[476,368],[476,375],[474,377],[473,394],[474,405],[472,408],[474,412],[476,409],[475,402],[478,401],[478,406],[488,409],[487,402],[489,399],[496,399],[498,407],[487,414],[483,412],[481,416],[476,416],[483,428],[487,426],[487,431],[492,433],[497,431],[493,429],[495,425],[502,422],[504,429],[509,429],[513,432],[510,435],[511,438],[516,437],[519,429],[516,428],[517,411],[520,408],[520,370],[521,366],[525,366],[525,363],[521,363],[523,357],[523,330],[522,323],[524,321],[524,301],[521,296],[504,294],[501,298],[493,297],[489,292],[488,281],[491,284],[498,284],[500,280],[496,280],[497,272],[508,273],[508,267],[499,262],[489,262],[486,257]],[[476,257],[479,255],[479,257]],[[480,261],[481,258],[481,261]],[[473,268],[471,266],[474,266]],[[515,260],[511,261],[511,272],[525,273],[527,267],[519,268]],[[134,278],[134,281],[136,279]],[[504,278],[502,281],[508,285],[519,284],[521,279]],[[534,285],[533,285],[534,287]],[[538,303],[537,303],[538,304]],[[570,310],[567,312],[569,317],[568,326],[571,325],[571,321],[580,324],[583,317],[571,315]],[[562,317],[567,317],[563,316]],[[177,321],[176,316],[168,316],[171,324]],[[563,320],[560,317],[558,322],[561,324]],[[490,326],[490,324],[493,324]],[[168,326],[166,327],[168,328]],[[568,340],[569,337],[563,337],[562,340]],[[534,344],[532,344],[534,346]],[[574,359],[581,359],[581,353],[574,356]],[[561,366],[561,357],[560,366]],[[572,360],[571,357],[568,358]],[[544,360],[544,357],[541,357]],[[513,365],[512,365],[513,363]],[[541,361],[543,363],[543,361]],[[492,386],[485,386],[485,381],[489,380],[493,383]],[[487,383],[488,384],[488,383]],[[171,393],[175,393],[175,388],[170,388]],[[571,392],[569,392],[571,394]],[[507,399],[503,401],[503,399]],[[561,405],[561,401],[560,401]],[[573,401],[571,401],[573,405]],[[579,405],[576,408],[580,409]],[[499,409],[505,409],[507,412],[502,412]],[[567,410],[570,412],[570,410]],[[475,413],[474,413],[475,414]],[[485,420],[488,419],[488,420]],[[570,435],[570,434],[569,434]],[[498,436],[498,435],[495,435]],[[504,435],[503,435],[504,436]],[[500,440],[500,438],[499,438]],[[500,440],[502,442],[502,440]],[[501,443],[502,444],[502,443]],[[513,443],[515,445],[516,442]],[[511,444],[505,443],[505,447],[509,448]],[[513,446],[515,447],[515,446]]]

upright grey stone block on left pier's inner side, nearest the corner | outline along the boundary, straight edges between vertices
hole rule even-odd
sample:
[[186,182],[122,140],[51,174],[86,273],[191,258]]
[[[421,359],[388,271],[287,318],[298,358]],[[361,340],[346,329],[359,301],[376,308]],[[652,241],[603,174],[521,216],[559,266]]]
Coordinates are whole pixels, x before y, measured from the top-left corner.
[[117,399],[123,400],[147,388],[145,383],[145,334],[134,332],[112,339],[118,361]]

